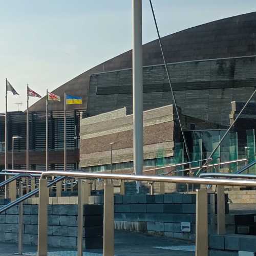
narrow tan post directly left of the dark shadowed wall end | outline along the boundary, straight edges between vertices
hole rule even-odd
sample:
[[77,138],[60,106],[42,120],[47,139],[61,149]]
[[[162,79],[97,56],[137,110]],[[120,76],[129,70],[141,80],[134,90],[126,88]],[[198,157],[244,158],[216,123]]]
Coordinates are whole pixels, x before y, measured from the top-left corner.
[[84,201],[82,179],[77,180],[77,185],[78,185],[77,256],[82,256],[83,201]]

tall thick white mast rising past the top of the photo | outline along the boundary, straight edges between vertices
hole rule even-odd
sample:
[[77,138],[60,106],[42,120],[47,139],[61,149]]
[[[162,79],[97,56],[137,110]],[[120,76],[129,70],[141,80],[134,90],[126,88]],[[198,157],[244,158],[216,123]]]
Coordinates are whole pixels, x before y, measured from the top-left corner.
[[[143,69],[142,69],[142,1],[133,5],[133,159],[136,175],[143,170]],[[140,182],[137,181],[137,193]]]

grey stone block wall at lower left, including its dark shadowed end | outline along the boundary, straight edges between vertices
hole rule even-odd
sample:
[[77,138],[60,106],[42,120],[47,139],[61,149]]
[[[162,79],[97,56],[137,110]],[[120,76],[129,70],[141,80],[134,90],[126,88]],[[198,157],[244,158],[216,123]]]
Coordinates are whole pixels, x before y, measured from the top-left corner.
[[[102,247],[103,207],[85,205],[83,242],[86,248]],[[18,206],[0,214],[0,241],[18,242]],[[24,205],[24,235],[26,245],[37,245],[38,205]],[[77,205],[48,205],[48,245],[77,247]]]

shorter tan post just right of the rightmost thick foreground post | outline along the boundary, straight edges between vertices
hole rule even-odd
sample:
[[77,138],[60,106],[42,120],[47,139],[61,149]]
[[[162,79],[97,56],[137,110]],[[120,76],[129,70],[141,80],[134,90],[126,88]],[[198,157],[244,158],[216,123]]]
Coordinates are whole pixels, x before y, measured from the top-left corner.
[[217,231],[226,233],[225,191],[224,186],[217,186]]

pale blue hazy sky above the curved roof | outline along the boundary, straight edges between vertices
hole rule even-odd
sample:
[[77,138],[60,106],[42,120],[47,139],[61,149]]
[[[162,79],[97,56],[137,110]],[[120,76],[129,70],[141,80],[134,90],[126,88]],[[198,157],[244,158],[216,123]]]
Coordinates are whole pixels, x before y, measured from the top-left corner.
[[[143,43],[156,39],[148,0]],[[152,0],[161,36],[220,18],[256,11],[255,0]],[[8,111],[26,109],[26,87],[45,96],[132,46],[131,0],[0,0],[0,112],[5,78]],[[38,98],[30,97],[30,105]]]

